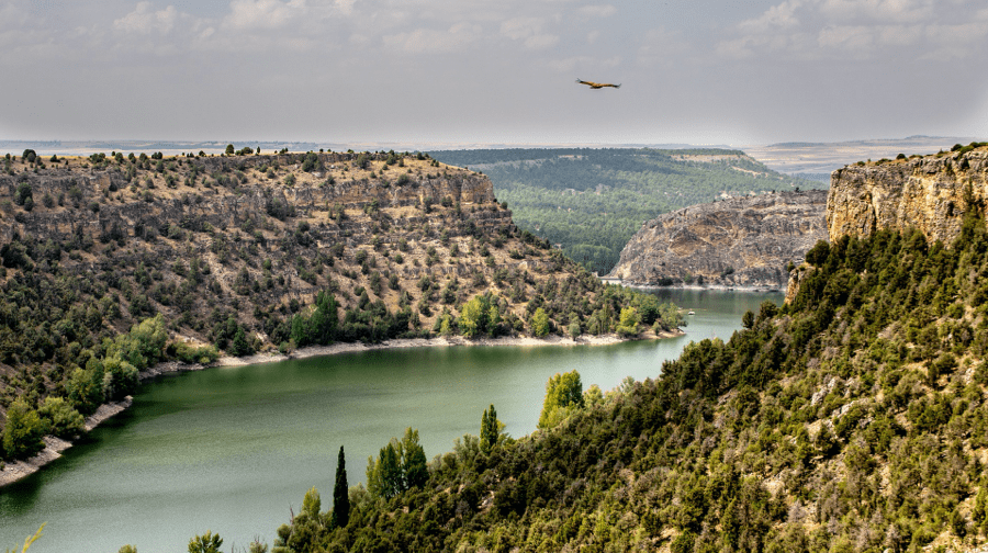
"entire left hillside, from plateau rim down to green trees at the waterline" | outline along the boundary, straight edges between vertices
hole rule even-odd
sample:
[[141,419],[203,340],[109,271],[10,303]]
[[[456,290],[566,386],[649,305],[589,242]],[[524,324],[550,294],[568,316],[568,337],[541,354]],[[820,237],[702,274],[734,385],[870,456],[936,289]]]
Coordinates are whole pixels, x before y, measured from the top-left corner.
[[486,177],[423,155],[27,150],[2,168],[8,459],[31,454],[37,431],[78,433],[79,413],[159,361],[676,325],[674,308],[517,229]]

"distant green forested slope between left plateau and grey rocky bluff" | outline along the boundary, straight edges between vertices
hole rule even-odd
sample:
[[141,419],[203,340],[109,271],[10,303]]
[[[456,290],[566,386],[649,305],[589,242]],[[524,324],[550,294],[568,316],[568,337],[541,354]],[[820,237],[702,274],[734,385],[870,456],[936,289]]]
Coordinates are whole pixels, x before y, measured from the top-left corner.
[[828,184],[777,173],[726,149],[478,149],[433,151],[491,178],[515,224],[606,274],[641,225],[726,195]]

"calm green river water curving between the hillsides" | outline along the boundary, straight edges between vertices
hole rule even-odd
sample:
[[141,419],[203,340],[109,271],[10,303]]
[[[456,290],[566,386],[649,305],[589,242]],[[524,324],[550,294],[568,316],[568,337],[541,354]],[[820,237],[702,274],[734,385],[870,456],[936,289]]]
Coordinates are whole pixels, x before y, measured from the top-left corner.
[[145,384],[134,406],[40,473],[0,488],[0,549],[42,522],[43,552],[183,552],[218,532],[224,551],[269,543],[311,486],[332,503],[336,456],[350,485],[367,458],[406,427],[426,455],[476,435],[490,404],[507,432],[531,432],[546,381],[576,369],[584,387],[655,377],[691,340],[729,338],[741,315],[777,293],[663,291],[685,309],[686,336],[615,346],[463,347],[369,351],[220,368]]

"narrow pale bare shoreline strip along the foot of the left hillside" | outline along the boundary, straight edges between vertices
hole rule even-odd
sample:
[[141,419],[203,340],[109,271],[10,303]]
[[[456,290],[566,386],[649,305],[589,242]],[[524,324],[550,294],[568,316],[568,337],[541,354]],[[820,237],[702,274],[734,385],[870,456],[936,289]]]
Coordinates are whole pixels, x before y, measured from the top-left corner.
[[[337,342],[329,346],[307,346],[305,348],[300,348],[290,354],[285,356],[283,353],[255,353],[252,356],[245,356],[242,358],[235,357],[222,357],[217,359],[215,362],[210,364],[201,364],[201,363],[182,363],[180,361],[165,361],[158,363],[151,368],[148,368],[145,371],[142,371],[138,374],[138,380],[142,383],[151,381],[157,379],[158,376],[169,375],[169,374],[179,374],[183,372],[191,371],[202,371],[205,369],[217,368],[217,366],[245,366],[250,364],[258,363],[273,363],[278,361],[285,361],[288,359],[307,359],[313,357],[325,357],[325,356],[335,356],[339,353],[351,353],[359,351],[371,351],[371,350],[384,350],[384,349],[403,349],[403,348],[436,348],[436,347],[498,347],[498,346],[525,346],[525,347],[541,347],[541,346],[610,346],[615,343],[620,343],[624,341],[632,341],[632,340],[660,340],[664,338],[676,338],[678,336],[683,336],[684,332],[681,329],[676,329],[674,331],[662,331],[659,334],[654,334],[651,330],[647,332],[642,332],[636,338],[620,338],[617,335],[603,335],[603,336],[581,336],[575,340],[573,338],[562,337],[562,336],[549,336],[547,338],[534,338],[534,337],[501,337],[501,338],[481,338],[478,340],[469,340],[467,338],[456,336],[456,337],[439,337],[439,338],[397,338],[394,340],[385,340],[381,343],[362,343],[362,342]],[[96,413],[86,417],[86,432],[89,433],[96,427],[100,426],[104,420],[123,413],[125,409],[133,405],[134,398],[132,396],[126,396],[123,400],[112,402],[108,404],[100,405],[97,408]],[[77,437],[77,440],[81,437]],[[56,438],[54,436],[45,436],[43,438],[45,442],[45,448],[38,452],[36,455],[24,460],[24,461],[13,461],[11,463],[7,463],[2,471],[0,471],[0,489],[9,484],[13,484],[22,478],[25,478],[37,471],[40,471],[46,464],[55,461],[56,459],[61,456],[61,452],[72,447],[75,443],[74,440],[65,440],[61,438]]]

